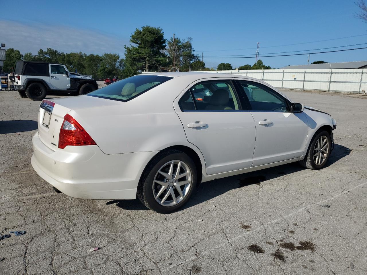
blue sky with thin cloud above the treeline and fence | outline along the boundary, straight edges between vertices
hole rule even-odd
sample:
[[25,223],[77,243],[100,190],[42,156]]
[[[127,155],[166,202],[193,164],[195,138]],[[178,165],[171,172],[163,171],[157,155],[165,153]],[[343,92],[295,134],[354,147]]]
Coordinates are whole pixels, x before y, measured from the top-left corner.
[[[367,23],[355,18],[353,0],[334,1],[23,1],[17,16],[6,12],[0,18],[1,43],[22,53],[47,47],[63,52],[82,51],[124,54],[124,44],[135,28],[161,27],[169,39],[193,38],[196,52],[209,55],[260,54],[300,51],[367,43]],[[282,47],[272,47],[288,45]],[[356,47],[367,47],[360,45]],[[251,48],[251,49],[248,49]],[[243,50],[233,50],[243,49]],[[340,48],[343,49],[343,48]],[[226,50],[226,51],[223,51]],[[283,67],[306,64],[307,56],[262,58],[266,65]],[[367,49],[315,54],[310,62],[367,60]],[[233,67],[253,64],[249,59],[209,59],[206,66],[229,62]]]

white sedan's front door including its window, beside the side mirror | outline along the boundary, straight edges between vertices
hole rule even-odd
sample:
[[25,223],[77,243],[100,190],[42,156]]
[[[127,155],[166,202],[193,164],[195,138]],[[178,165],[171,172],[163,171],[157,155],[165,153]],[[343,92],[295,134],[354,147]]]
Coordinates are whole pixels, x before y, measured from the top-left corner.
[[267,85],[237,80],[256,125],[252,166],[301,157],[308,123],[304,113],[292,113],[290,102]]

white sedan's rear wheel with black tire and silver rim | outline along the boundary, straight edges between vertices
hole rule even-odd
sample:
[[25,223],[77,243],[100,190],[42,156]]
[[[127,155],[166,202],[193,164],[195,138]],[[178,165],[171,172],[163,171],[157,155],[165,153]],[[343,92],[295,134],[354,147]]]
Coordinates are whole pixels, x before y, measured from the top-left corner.
[[138,198],[155,212],[166,214],[181,208],[195,192],[197,171],[192,159],[178,150],[155,156],[138,186]]

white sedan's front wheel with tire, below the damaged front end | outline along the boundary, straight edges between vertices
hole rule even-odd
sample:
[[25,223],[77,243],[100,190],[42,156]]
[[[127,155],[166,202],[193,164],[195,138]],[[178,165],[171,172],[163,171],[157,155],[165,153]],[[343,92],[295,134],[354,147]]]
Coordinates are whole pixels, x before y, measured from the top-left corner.
[[326,165],[331,153],[331,137],[327,131],[316,133],[308,148],[306,156],[299,163],[312,170],[318,170]]

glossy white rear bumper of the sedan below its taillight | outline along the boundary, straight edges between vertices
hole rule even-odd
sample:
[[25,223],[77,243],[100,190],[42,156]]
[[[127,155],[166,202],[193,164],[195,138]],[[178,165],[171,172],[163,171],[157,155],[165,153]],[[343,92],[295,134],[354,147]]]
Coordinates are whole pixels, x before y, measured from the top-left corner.
[[48,148],[33,136],[31,163],[37,174],[74,198],[135,199],[140,176],[156,152],[104,154],[97,145]]

